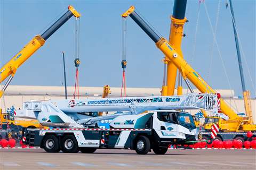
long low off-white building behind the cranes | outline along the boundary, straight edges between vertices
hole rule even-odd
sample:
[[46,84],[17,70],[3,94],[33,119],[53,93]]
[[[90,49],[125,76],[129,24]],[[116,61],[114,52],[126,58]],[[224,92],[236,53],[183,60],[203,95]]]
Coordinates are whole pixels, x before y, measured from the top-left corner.
[[[121,88],[110,87],[111,94],[109,97],[120,97]],[[159,88],[127,88],[126,96],[160,96]],[[194,90],[199,93],[198,90]],[[245,113],[243,99],[234,97],[234,90],[216,90],[221,97],[238,113]],[[83,98],[100,98],[103,87],[79,87],[79,96]],[[176,93],[175,91],[174,93]],[[189,91],[183,89],[183,94]],[[74,87],[67,87],[68,99],[73,98]],[[65,88],[60,86],[9,86],[2,98],[1,108],[3,112],[12,106],[15,109],[22,108],[24,101],[30,100],[48,100],[48,99],[65,99]],[[254,123],[256,123],[255,104],[256,100],[251,99],[252,113]],[[194,113],[194,112],[193,112]]]

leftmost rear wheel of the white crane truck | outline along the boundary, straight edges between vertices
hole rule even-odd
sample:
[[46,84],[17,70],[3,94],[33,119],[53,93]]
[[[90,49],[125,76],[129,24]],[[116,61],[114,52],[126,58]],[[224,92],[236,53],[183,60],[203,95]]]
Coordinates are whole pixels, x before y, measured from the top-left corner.
[[52,134],[46,135],[43,140],[43,148],[46,152],[59,152],[60,146],[58,138]]

